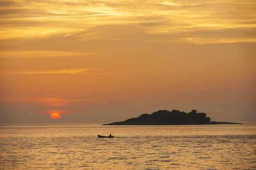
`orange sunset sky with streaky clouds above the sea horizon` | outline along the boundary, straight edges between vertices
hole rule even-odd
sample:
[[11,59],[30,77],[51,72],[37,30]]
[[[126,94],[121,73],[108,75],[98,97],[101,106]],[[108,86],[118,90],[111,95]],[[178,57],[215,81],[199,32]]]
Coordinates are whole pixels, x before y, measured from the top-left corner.
[[164,109],[256,121],[254,0],[8,0],[0,11],[1,123]]

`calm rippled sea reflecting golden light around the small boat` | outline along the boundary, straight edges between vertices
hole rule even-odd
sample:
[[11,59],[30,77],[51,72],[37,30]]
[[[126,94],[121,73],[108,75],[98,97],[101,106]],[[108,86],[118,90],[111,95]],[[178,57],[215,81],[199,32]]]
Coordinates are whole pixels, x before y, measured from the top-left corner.
[[0,169],[256,169],[256,123],[17,124],[0,135]]

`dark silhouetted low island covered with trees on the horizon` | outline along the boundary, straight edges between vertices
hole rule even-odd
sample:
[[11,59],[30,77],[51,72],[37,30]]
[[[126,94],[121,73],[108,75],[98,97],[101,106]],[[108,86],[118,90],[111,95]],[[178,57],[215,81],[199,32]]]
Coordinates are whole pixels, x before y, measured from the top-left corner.
[[185,124],[241,124],[232,122],[215,122],[203,112],[192,110],[184,112],[179,110],[159,110],[153,114],[142,114],[137,118],[127,119],[103,125],[185,125]]

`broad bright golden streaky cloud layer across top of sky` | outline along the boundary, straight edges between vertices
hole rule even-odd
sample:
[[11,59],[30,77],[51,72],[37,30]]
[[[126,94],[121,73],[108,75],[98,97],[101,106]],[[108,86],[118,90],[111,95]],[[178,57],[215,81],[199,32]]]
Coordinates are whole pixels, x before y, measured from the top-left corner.
[[[10,2],[0,7],[4,10],[0,18],[0,39],[60,34],[78,36],[87,41],[123,39],[127,30],[132,28],[130,32],[133,34],[174,36],[181,43],[188,39],[186,43],[198,44],[197,39],[201,39],[199,44],[208,44],[214,42],[212,37],[218,37],[215,43],[256,41],[255,1]],[[158,24],[148,26],[143,24],[145,22]],[[124,24],[127,26],[123,27]],[[111,30],[98,29],[110,25],[119,27],[114,36]],[[86,34],[80,34],[83,32]],[[199,34],[194,36],[195,32]],[[137,38],[149,40],[142,36]]]

